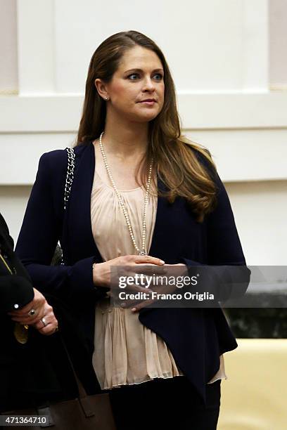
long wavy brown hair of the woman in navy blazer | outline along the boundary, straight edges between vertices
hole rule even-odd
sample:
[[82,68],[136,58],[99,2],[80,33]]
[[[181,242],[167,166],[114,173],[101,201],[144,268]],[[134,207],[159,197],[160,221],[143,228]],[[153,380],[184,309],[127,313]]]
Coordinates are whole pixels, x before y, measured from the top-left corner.
[[146,184],[147,167],[153,158],[158,177],[166,187],[166,190],[158,190],[158,195],[167,197],[170,202],[174,202],[177,196],[185,197],[197,221],[201,222],[216,204],[215,164],[208,150],[181,135],[172,75],[160,48],[144,34],[136,31],[113,34],[94,52],[89,65],[76,145],[94,141],[105,128],[106,102],[96,90],[95,79],[110,82],[122,55],[136,45],[157,54],[165,82],[164,104],[158,116],[149,123],[148,150],[141,160],[144,168],[141,169],[140,181],[137,178],[136,181]]

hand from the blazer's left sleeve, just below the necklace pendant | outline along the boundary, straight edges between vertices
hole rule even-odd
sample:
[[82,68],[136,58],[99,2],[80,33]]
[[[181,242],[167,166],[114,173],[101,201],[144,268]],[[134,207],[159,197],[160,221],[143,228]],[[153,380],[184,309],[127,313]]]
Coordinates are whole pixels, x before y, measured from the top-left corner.
[[[116,257],[115,259],[105,261],[103,263],[96,263],[93,266],[93,280],[96,287],[111,287],[110,273],[112,266],[121,266],[125,269],[125,276],[134,276],[139,273],[141,268],[139,266],[151,266],[154,272],[156,266],[164,266],[165,261],[150,255],[124,255]],[[125,268],[126,266],[126,268]],[[147,273],[147,271],[145,270]],[[162,271],[161,271],[162,272]],[[147,291],[144,287],[134,287],[136,291]]]

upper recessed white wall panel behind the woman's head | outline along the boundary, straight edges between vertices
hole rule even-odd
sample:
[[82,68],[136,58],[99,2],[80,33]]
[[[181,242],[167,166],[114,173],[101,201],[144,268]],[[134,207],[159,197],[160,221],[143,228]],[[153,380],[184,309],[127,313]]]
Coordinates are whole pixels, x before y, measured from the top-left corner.
[[91,53],[122,30],[160,44],[179,91],[266,88],[266,0],[18,0],[18,10],[22,94],[82,93]]

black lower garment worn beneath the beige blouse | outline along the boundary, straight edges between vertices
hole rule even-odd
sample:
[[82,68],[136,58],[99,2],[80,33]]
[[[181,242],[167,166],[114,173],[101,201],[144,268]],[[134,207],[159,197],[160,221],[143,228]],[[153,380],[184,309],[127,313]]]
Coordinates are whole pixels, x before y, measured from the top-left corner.
[[216,430],[220,384],[207,384],[206,408],[184,376],[112,389],[117,430]]

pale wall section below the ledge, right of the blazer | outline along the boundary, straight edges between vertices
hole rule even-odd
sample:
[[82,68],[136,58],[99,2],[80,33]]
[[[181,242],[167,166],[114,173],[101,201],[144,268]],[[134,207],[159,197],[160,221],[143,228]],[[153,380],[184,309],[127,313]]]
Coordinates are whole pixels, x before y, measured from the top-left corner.
[[226,183],[245,259],[286,266],[287,181]]

